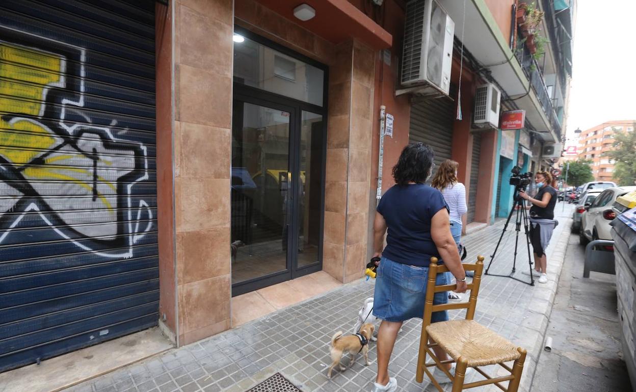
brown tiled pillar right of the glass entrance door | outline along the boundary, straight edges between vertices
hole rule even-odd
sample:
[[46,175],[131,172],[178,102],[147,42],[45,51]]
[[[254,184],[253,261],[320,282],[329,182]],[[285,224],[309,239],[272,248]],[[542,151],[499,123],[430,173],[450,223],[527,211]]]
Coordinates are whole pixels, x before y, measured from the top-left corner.
[[323,269],[343,282],[363,276],[367,253],[374,56],[348,41],[329,69]]

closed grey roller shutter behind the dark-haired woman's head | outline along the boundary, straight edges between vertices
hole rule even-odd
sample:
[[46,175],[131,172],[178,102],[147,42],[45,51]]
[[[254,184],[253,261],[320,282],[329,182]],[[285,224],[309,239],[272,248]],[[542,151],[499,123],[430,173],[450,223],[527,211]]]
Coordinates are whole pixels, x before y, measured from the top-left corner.
[[[411,105],[409,142],[422,142],[435,152],[435,166],[451,158],[455,105],[448,98],[429,99]],[[432,173],[431,178],[435,173]]]

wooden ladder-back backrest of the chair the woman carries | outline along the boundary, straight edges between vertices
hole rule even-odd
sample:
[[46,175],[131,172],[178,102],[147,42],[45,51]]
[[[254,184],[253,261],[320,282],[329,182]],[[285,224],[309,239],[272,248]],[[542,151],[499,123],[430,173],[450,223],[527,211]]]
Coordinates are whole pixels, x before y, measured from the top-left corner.
[[435,284],[437,275],[448,272],[448,267],[444,264],[437,264],[437,257],[431,257],[431,264],[429,265],[429,281],[426,287],[426,305],[424,306],[424,317],[422,318],[424,326],[431,324],[431,315],[433,312],[451,309],[467,309],[466,320],[473,320],[475,308],[477,306],[477,295],[479,294],[479,287],[481,283],[481,273],[483,272],[483,259],[483,256],[477,256],[477,262],[475,264],[462,264],[464,271],[474,271],[473,281],[471,281],[468,285],[468,290],[470,290],[471,295],[467,302],[434,305],[433,298],[435,293],[455,290],[457,288],[457,284],[439,286]]

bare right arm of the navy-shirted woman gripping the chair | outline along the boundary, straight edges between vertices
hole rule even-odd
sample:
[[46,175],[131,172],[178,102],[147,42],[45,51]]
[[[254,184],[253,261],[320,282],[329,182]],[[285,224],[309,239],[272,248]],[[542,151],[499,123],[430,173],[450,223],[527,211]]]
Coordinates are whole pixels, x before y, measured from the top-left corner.
[[450,234],[450,224],[448,221],[448,210],[442,208],[439,210],[431,220],[431,238],[438,248],[441,259],[444,260],[444,264],[448,267],[450,273],[455,276],[457,280],[457,290],[455,292],[466,292],[466,272],[462,267],[462,260],[459,257],[457,251],[457,244],[453,240],[452,234]]

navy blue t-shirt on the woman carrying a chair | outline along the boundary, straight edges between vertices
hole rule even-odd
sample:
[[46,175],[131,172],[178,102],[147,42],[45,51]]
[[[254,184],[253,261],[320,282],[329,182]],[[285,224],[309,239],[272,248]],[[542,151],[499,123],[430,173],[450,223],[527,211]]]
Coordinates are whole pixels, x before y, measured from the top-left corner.
[[389,227],[382,255],[411,266],[428,267],[433,256],[441,261],[431,238],[431,220],[442,208],[448,210],[448,205],[438,189],[424,184],[392,186],[377,208]]

